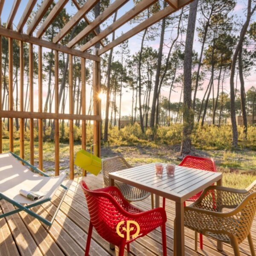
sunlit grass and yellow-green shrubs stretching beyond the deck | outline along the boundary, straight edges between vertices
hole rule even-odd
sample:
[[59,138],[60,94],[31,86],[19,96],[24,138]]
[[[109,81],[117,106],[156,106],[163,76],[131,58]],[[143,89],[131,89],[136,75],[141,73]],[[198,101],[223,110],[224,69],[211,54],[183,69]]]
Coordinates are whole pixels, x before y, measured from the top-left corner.
[[[244,188],[256,179],[256,126],[248,127],[245,140],[239,127],[239,148],[232,148],[232,131],[230,125],[209,126],[204,128],[195,126],[192,134],[193,155],[212,157],[219,172],[223,172],[223,185]],[[159,127],[152,134],[146,129],[145,134],[140,126],[130,125],[120,131],[113,127],[109,131],[109,141],[102,145],[102,158],[122,155],[133,166],[153,163],[180,163],[177,158],[180,151],[182,126]],[[29,134],[29,132],[27,132]],[[49,131],[47,132],[49,134]],[[18,132],[14,141],[14,151],[19,154]],[[76,127],[74,152],[81,149],[81,128]],[[29,140],[25,140],[25,160],[29,161]],[[60,169],[69,173],[69,144],[68,127],[65,127],[65,143],[60,143]],[[92,127],[87,126],[87,145],[92,141]],[[88,148],[89,149],[89,148]],[[3,152],[9,150],[8,133],[3,139]],[[49,136],[44,142],[44,171],[54,174],[54,142]],[[38,165],[38,142],[35,141],[35,165]],[[81,175],[81,169],[75,166],[75,175]]]

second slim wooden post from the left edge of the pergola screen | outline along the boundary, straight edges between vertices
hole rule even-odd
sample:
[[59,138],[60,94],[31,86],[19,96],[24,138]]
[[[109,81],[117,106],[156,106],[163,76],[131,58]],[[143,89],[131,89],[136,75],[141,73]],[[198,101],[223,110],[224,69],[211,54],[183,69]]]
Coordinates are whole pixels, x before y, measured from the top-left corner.
[[[9,110],[13,110],[13,40],[8,39],[9,46]],[[9,118],[9,148],[13,152],[13,118]]]

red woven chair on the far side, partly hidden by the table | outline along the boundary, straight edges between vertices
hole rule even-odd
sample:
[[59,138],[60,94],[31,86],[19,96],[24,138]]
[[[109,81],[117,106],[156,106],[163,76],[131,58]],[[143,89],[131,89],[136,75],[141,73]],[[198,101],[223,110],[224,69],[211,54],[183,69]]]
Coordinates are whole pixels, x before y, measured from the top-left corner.
[[[179,166],[185,166],[185,167],[205,170],[209,172],[217,172],[214,160],[212,158],[206,158],[206,157],[195,157],[195,156],[187,155],[186,157],[183,158]],[[193,195],[187,201],[191,201],[191,202],[196,201],[200,197],[202,192],[203,191],[198,192],[196,195]],[[184,207],[186,207],[186,202],[184,202]],[[197,236],[197,233],[196,233],[196,236]],[[201,250],[203,250],[203,235],[200,233],[199,237],[200,237],[200,248]],[[197,243],[197,237],[195,240]]]

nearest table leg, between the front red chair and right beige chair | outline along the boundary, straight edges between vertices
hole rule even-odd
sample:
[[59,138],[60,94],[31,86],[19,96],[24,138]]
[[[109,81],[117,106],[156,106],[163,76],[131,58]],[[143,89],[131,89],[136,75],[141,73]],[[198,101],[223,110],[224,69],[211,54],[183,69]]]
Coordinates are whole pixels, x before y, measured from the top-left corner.
[[175,204],[175,252],[176,256],[185,255],[185,241],[184,241],[184,205],[176,202]]

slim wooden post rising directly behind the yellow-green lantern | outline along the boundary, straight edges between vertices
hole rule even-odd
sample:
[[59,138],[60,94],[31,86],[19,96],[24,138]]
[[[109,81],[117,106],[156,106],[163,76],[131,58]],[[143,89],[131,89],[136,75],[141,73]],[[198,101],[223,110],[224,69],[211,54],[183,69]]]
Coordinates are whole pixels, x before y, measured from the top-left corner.
[[[82,115],[85,115],[86,111],[86,70],[85,70],[85,58],[81,58],[81,103],[82,103]],[[82,149],[86,150],[86,122],[82,120]],[[86,176],[86,170],[83,170],[83,176]]]

